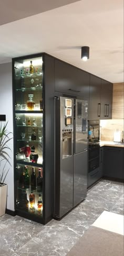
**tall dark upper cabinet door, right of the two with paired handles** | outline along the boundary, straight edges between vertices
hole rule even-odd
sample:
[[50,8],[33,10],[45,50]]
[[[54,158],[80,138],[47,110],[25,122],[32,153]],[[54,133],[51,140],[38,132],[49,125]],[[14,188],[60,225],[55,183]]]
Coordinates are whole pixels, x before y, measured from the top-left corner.
[[113,84],[101,79],[101,115],[100,119],[112,118]]

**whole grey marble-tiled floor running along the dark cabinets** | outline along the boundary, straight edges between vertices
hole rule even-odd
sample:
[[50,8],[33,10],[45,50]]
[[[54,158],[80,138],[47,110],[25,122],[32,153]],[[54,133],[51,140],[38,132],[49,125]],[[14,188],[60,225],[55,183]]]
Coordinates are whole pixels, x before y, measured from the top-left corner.
[[103,211],[123,214],[122,183],[102,179],[73,211],[45,226],[4,215],[0,217],[2,256],[65,256]]

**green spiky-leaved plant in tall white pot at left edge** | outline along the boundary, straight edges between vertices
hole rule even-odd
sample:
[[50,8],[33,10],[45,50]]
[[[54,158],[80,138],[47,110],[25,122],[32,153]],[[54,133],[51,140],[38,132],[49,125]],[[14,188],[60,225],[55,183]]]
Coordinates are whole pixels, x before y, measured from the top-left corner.
[[7,131],[7,123],[4,126],[0,127],[0,216],[5,214],[6,210],[6,200],[7,200],[7,185],[4,183],[5,178],[8,174],[9,168],[6,169],[6,164],[9,162],[9,150],[11,150],[7,143],[12,138],[9,138],[9,135],[12,132]]

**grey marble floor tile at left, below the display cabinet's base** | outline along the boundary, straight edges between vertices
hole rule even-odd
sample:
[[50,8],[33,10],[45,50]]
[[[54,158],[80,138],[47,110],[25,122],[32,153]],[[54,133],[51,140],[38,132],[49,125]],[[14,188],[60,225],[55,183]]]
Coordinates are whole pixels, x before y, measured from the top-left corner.
[[14,252],[39,233],[45,226],[15,216],[6,221],[5,229],[0,232],[0,248]]

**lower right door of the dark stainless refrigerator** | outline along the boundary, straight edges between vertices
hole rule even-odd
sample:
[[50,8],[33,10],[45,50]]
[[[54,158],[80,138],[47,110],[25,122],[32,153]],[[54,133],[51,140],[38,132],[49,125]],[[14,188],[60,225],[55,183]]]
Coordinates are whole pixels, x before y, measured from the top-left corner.
[[74,207],[87,195],[87,151],[74,155]]

